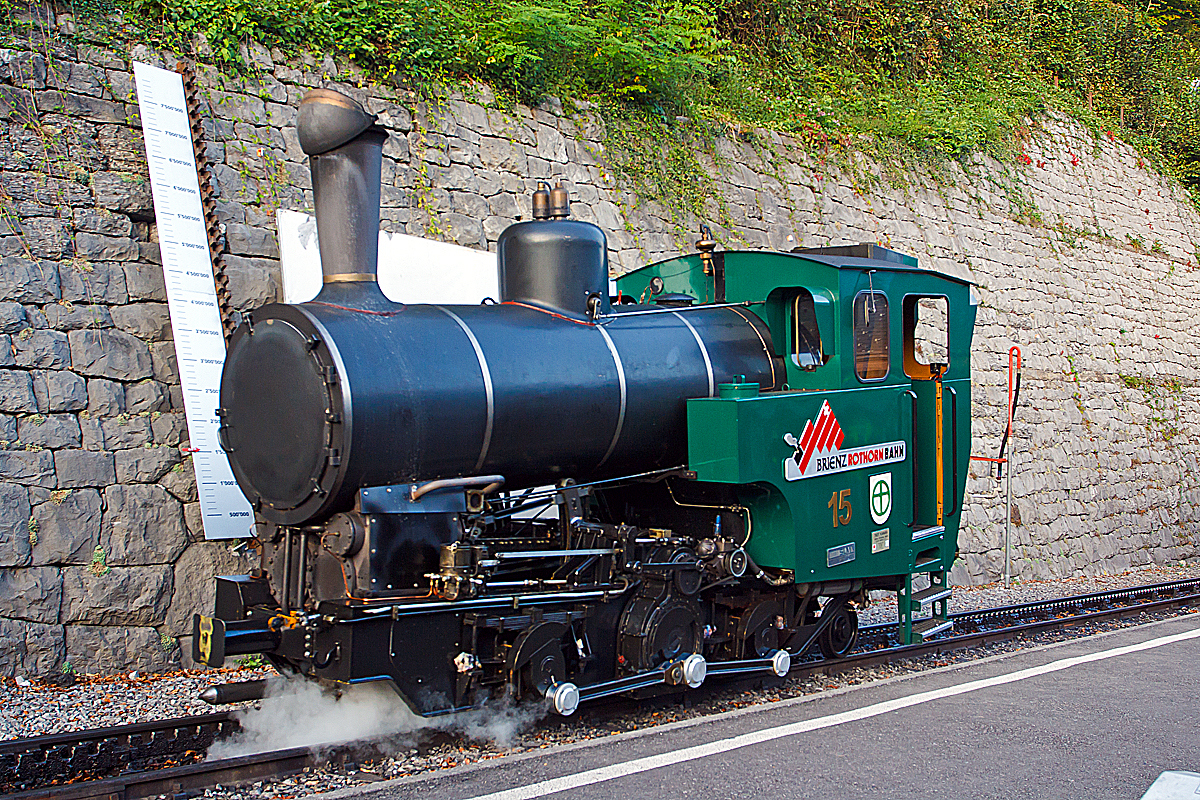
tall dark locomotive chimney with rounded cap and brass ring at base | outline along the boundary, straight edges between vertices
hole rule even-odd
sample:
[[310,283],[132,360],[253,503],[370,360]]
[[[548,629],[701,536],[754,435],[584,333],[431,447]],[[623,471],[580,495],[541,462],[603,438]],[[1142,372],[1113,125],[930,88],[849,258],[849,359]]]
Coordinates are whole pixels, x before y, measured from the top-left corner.
[[379,184],[388,133],[356,102],[329,89],[300,101],[296,132],[312,169],[317,241],[324,287],[319,297],[382,300]]

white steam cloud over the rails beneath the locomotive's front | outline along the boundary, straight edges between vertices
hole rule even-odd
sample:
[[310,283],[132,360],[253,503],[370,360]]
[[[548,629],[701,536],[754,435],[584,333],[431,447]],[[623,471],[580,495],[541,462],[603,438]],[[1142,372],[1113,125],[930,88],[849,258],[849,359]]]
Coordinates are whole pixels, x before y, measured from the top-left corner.
[[307,680],[275,679],[258,708],[238,712],[241,730],[209,747],[208,760],[289,747],[383,740],[419,730],[451,730],[509,747],[546,715],[544,703],[517,705],[505,697],[478,709],[432,720],[414,714],[386,684],[346,687],[340,694]]

